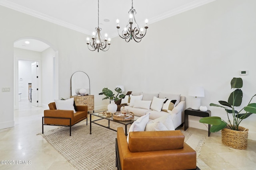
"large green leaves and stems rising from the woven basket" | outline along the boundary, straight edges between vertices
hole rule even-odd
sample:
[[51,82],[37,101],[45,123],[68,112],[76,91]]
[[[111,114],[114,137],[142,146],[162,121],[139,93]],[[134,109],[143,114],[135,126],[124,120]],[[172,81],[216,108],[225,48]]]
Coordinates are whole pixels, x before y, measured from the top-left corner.
[[[228,126],[232,130],[238,131],[238,126],[241,123],[241,121],[252,115],[252,113],[256,113],[256,103],[250,103],[252,101],[252,98],[256,96],[256,94],[252,96],[247,106],[242,107],[240,111],[236,111],[235,107],[241,106],[242,104],[243,92],[240,89],[242,88],[242,86],[242,78],[233,78],[231,80],[231,89],[233,88],[233,92],[230,94],[228,102],[220,100],[219,103],[221,105],[213,103],[210,104],[210,106],[224,108],[228,115],[228,122],[216,116],[203,117],[199,120],[199,122],[212,125],[210,132],[220,131],[221,129],[224,129],[226,126]],[[230,119],[229,116],[231,115],[233,119]]]

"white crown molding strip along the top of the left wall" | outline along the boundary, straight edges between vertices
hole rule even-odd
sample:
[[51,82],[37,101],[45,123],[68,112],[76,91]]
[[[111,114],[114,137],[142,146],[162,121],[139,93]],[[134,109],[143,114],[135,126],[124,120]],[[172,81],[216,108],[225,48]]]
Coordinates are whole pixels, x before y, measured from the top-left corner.
[[40,19],[45,20],[45,21],[49,21],[51,23],[55,23],[57,25],[61,25],[63,27],[67,27],[69,29],[73,29],[73,30],[81,32],[81,33],[85,33],[87,35],[91,34],[91,31],[88,31],[88,30],[83,29],[81,27],[78,27],[76,25],[70,24],[68,22],[59,20],[57,18],[42,14],[42,13],[37,12],[35,10],[31,10],[30,8],[26,8],[24,6],[20,6],[18,4],[12,3],[12,2],[8,2],[7,0],[0,0],[0,5],[5,6],[7,8],[10,8],[12,10],[16,10],[18,12],[22,12],[24,14],[28,14],[30,16],[34,16],[36,18],[40,18]]

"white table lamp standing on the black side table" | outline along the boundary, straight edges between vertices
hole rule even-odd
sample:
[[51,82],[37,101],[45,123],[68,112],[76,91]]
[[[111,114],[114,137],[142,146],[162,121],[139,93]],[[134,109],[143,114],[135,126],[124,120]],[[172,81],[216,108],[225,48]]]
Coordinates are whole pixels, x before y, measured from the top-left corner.
[[204,88],[203,87],[190,87],[188,90],[188,96],[193,96],[192,99],[192,109],[199,110],[201,106],[201,99],[198,97],[204,97]]

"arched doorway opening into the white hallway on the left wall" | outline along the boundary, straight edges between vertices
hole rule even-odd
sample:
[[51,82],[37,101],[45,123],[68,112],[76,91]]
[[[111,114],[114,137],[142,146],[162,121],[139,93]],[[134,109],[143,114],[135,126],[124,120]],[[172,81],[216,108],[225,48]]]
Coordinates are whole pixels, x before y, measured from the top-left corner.
[[[28,81],[19,74],[19,63],[38,63],[38,106],[44,106],[58,98],[58,51],[48,41],[37,37],[23,37],[14,42],[14,109],[19,109],[19,100],[29,99]],[[25,77],[29,77],[24,73]],[[22,82],[24,81],[24,82]],[[20,95],[20,96],[19,96]]]

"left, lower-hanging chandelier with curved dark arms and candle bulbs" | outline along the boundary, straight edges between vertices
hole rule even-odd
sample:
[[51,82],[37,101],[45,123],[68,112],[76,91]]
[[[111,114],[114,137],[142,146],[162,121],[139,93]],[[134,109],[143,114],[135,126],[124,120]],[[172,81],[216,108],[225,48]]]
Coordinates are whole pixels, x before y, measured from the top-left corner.
[[[108,51],[109,46],[110,46],[110,38],[107,40],[108,34],[105,34],[105,39],[102,38],[100,31],[101,28],[99,27],[99,0],[98,0],[98,27],[95,28],[96,33],[92,33],[92,40],[90,41],[90,38],[87,37],[87,46],[90,51],[95,51],[95,50],[101,50],[101,51]],[[90,41],[90,43],[89,43]],[[107,43],[108,41],[108,43]],[[89,46],[90,45],[90,46]]]

